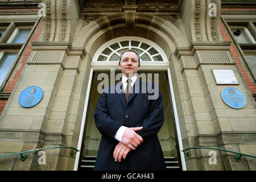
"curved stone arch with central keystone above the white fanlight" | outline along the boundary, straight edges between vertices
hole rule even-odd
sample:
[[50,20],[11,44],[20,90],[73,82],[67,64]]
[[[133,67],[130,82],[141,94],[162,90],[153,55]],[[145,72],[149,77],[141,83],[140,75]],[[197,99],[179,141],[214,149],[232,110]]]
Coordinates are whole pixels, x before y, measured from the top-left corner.
[[[127,21],[125,13],[103,16],[89,23],[77,34],[73,47],[85,47],[93,56],[97,49],[108,40],[120,36],[139,36],[158,44],[167,57],[176,47],[188,47],[187,37],[171,22],[154,15],[135,13],[134,22]],[[127,26],[127,22],[130,22]],[[132,30],[132,31],[131,31]]]

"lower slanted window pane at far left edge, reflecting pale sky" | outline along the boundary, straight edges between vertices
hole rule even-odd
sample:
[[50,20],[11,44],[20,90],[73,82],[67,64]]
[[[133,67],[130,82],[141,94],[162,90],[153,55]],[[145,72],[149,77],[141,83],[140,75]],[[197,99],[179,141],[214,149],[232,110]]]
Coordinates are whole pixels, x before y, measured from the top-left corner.
[[6,52],[0,60],[0,85],[2,85],[3,80],[9,73],[11,66],[13,65],[17,52]]

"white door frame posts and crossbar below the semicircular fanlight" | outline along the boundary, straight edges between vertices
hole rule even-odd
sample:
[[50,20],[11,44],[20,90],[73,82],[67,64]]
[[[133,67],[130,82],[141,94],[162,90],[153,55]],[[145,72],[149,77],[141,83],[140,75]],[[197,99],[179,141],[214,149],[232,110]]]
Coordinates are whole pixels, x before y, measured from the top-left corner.
[[[111,63],[110,63],[111,64]],[[93,64],[92,63],[92,68],[90,69],[90,76],[89,76],[89,81],[88,81],[88,87],[87,87],[87,91],[86,91],[86,97],[85,97],[85,104],[84,104],[84,113],[82,114],[82,123],[81,123],[81,129],[80,129],[80,135],[79,135],[79,142],[77,144],[77,149],[79,151],[77,151],[76,153],[76,159],[75,159],[75,165],[73,170],[77,171],[79,169],[79,164],[80,164],[80,155],[81,155],[81,146],[82,146],[82,142],[84,141],[83,137],[84,137],[84,129],[86,128],[86,115],[88,113],[88,104],[89,104],[89,98],[90,98],[90,89],[92,87],[92,81],[93,81],[93,73],[95,71],[109,71],[111,68],[113,69],[118,69],[117,67],[117,63],[115,62],[113,65],[110,65],[108,63],[108,65],[102,66],[103,64],[100,64],[100,66],[98,64]],[[162,64],[163,65],[163,64]],[[111,68],[110,68],[111,67]],[[181,160],[181,167],[183,169],[183,171],[187,171],[187,167],[185,164],[185,156],[184,156],[184,152],[182,152],[183,150],[183,145],[182,145],[182,138],[181,138],[181,133],[180,133],[180,126],[179,126],[179,118],[177,115],[177,107],[176,107],[176,102],[175,102],[175,96],[174,96],[174,88],[172,85],[172,78],[171,78],[171,71],[170,71],[170,67],[169,64],[165,65],[165,67],[148,67],[147,64],[141,65],[141,71],[167,71],[167,78],[168,78],[168,84],[169,84],[169,89],[170,89],[170,94],[169,96],[170,98],[170,102],[172,104],[172,110],[173,110],[173,115],[172,117],[174,118],[175,121],[175,127],[176,127],[176,134],[177,134],[177,142],[179,144],[179,146],[177,146],[177,152],[179,152],[178,155],[180,155],[180,160]]]

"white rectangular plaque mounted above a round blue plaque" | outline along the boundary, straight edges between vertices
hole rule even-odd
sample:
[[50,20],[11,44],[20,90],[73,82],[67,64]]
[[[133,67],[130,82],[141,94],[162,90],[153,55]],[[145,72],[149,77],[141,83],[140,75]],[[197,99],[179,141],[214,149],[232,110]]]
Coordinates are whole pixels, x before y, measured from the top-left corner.
[[212,69],[217,85],[239,85],[232,69]]

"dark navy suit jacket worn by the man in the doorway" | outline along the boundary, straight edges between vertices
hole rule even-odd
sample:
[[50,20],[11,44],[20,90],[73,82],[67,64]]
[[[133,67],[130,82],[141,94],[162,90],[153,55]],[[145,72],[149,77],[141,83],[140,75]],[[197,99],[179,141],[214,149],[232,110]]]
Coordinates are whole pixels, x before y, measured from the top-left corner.
[[[122,89],[121,82],[118,84]],[[113,152],[118,143],[114,137],[122,125],[126,127],[143,126],[141,131],[136,132],[141,135],[143,142],[136,150],[130,151],[125,159],[129,163],[130,169],[166,169],[163,151],[157,136],[164,122],[163,96],[156,88],[159,90],[159,96],[155,100],[148,100],[148,96],[152,96],[154,93],[148,89],[145,90],[144,88],[147,86],[146,82],[137,79],[127,105],[124,93],[110,93],[110,90],[115,90],[113,86],[104,89],[94,112],[94,121],[102,134],[94,170],[119,170],[120,163],[114,161]],[[151,84],[150,88],[154,89],[154,84]],[[137,90],[136,93],[135,90]]]

